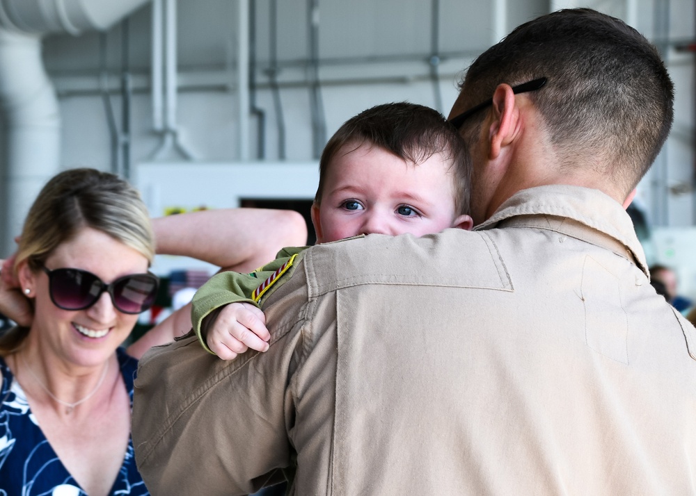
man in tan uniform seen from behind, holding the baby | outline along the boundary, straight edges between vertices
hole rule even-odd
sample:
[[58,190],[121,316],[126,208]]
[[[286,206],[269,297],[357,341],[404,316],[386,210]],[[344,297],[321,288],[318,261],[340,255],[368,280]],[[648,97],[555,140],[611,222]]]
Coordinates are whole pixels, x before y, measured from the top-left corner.
[[523,24],[452,122],[475,231],[303,251],[261,300],[264,354],[155,350],[133,436],[157,494],[696,493],[696,329],[649,283],[622,206],[672,122],[635,30]]

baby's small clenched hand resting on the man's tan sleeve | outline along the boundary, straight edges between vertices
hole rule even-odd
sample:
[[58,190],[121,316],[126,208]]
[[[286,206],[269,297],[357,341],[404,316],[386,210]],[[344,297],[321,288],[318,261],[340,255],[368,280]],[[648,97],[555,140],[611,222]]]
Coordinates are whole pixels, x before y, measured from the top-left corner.
[[248,303],[232,303],[222,309],[212,329],[208,329],[205,342],[223,360],[233,360],[249,348],[265,352],[269,339],[262,311]]

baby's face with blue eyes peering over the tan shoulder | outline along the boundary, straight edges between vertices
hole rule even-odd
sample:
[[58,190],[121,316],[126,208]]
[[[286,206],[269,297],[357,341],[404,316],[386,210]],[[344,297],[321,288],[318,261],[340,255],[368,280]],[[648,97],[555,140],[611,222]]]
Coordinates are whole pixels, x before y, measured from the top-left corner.
[[326,171],[321,204],[312,207],[317,242],[471,229],[471,217],[454,211],[449,168],[439,154],[413,165],[370,144],[345,145]]

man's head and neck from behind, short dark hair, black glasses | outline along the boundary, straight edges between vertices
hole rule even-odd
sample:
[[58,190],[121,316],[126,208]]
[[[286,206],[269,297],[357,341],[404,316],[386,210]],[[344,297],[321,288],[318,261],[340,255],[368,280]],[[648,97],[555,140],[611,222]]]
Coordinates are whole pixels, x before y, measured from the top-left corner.
[[[515,93],[523,95],[514,99]],[[469,67],[450,117],[474,156],[489,141],[486,124],[498,122],[491,117],[503,115],[512,101],[519,102],[512,110],[528,117],[508,120],[505,114],[497,135],[502,138],[500,131],[509,126],[535,125],[532,132],[512,131],[532,136],[525,150],[544,150],[533,160],[528,154],[507,158],[516,170],[493,184],[481,167],[490,158],[476,161],[475,174],[484,177],[474,177],[475,224],[515,190],[537,185],[596,188],[623,204],[633,198],[674,117],[672,81],[656,49],[619,19],[589,9],[562,10],[523,24]],[[475,104],[479,109],[471,113]],[[459,115],[464,110],[468,113]],[[505,143],[492,141],[494,153],[505,149]],[[491,191],[497,183],[505,191]]]

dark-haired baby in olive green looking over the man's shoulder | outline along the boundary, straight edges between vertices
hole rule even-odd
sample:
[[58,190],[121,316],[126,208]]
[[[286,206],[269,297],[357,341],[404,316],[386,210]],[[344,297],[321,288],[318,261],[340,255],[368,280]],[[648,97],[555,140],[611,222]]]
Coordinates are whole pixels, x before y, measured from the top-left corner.
[[[471,229],[470,171],[459,133],[436,110],[409,103],[365,110],[336,131],[319,161],[311,212],[317,242]],[[266,351],[270,335],[258,306],[302,250],[284,249],[257,272],[223,272],[205,283],[192,311],[203,347],[226,360],[248,347]],[[232,336],[235,327],[242,341]]]

